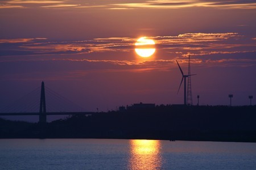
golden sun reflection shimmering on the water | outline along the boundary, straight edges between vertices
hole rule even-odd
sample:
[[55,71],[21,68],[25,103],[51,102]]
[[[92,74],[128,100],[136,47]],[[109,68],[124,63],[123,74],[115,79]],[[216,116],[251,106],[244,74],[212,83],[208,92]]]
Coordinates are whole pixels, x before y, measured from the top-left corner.
[[160,141],[130,140],[129,169],[160,169],[161,165]]

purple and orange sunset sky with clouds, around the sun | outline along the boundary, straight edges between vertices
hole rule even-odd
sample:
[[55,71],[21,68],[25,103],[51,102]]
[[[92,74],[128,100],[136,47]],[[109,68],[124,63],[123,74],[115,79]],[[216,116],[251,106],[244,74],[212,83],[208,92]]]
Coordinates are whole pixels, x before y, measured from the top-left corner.
[[256,103],[256,1],[0,0],[0,25],[0,108],[42,80],[84,111],[183,104],[188,54],[193,104]]

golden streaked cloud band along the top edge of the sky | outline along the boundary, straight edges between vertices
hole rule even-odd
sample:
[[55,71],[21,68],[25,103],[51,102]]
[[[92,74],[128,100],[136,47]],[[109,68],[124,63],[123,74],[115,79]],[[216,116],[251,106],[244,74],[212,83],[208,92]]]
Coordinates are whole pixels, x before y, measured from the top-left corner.
[[[11,4],[22,4],[30,6],[12,6]],[[31,6],[40,4],[52,4],[49,6]],[[122,1],[121,3],[112,3],[112,1],[76,1],[76,0],[65,0],[65,1],[5,1],[0,8],[14,8],[14,7],[44,7],[44,8],[65,8],[65,7],[76,7],[76,8],[95,8],[102,7],[110,10],[128,10],[136,8],[158,8],[158,9],[172,9],[172,8],[188,8],[188,7],[214,7],[221,9],[255,9],[256,2],[254,1],[207,1],[207,0],[144,0],[141,2],[130,3],[130,1]]]

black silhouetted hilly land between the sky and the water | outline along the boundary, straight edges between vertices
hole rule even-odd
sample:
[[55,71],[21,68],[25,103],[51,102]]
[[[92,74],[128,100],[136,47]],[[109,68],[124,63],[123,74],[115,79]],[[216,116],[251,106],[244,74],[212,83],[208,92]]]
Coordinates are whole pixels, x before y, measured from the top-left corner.
[[256,142],[256,106],[172,106],[74,115],[47,124],[0,120],[0,138]]

